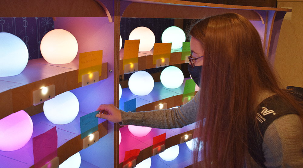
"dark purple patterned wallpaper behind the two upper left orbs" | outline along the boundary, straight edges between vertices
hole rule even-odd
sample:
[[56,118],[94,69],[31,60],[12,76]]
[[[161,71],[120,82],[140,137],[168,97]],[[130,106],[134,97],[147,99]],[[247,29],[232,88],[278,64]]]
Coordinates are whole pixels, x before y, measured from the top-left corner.
[[43,36],[53,29],[53,18],[0,18],[0,32],[21,38],[28,48],[29,60],[42,58],[40,42]]

